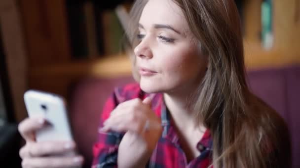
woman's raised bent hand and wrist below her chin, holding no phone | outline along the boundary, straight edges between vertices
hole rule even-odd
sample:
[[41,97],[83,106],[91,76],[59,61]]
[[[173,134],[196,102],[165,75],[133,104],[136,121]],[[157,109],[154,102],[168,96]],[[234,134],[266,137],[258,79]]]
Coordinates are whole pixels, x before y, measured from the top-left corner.
[[161,119],[151,110],[151,99],[119,104],[101,131],[126,132],[118,149],[119,167],[145,167],[161,137]]

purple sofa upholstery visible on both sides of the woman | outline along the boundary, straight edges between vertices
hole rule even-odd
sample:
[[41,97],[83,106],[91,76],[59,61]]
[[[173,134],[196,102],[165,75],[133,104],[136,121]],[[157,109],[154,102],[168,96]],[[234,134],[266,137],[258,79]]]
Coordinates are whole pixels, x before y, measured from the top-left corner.
[[[105,100],[115,86],[133,82],[131,77],[86,79],[75,85],[70,100],[70,119],[78,149],[89,168],[92,145]],[[293,168],[300,168],[300,66],[248,72],[248,83],[256,95],[287,122],[292,136]]]

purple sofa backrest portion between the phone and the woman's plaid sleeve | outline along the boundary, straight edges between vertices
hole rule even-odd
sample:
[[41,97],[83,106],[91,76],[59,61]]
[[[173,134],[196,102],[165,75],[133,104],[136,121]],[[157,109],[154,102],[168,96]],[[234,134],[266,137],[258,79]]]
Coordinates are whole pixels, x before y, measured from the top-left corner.
[[97,140],[97,130],[103,105],[113,88],[133,82],[132,77],[119,79],[85,79],[75,85],[69,104],[69,117],[78,150],[85,158],[84,168],[90,168],[92,145]]

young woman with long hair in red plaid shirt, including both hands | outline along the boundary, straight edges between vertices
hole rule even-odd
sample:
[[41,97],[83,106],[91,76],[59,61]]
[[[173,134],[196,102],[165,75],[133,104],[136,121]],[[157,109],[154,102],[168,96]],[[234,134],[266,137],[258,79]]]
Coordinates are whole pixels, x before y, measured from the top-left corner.
[[[116,88],[106,103],[94,168],[290,167],[283,119],[247,87],[233,0],[137,0],[131,14],[138,84]],[[41,127],[20,124],[24,167],[80,165],[51,157],[74,143],[36,143]]]

